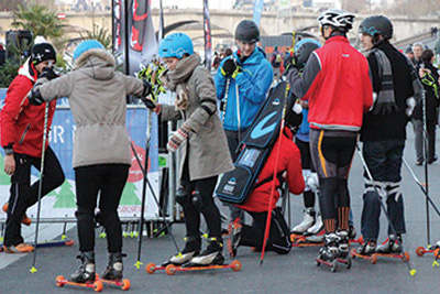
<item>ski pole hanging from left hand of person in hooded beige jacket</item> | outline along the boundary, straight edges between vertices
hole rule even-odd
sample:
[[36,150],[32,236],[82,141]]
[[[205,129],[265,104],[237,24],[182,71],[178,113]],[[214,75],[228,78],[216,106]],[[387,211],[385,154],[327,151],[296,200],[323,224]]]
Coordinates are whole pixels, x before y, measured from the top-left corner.
[[43,146],[42,146],[42,157],[41,157],[41,165],[40,165],[40,183],[38,183],[38,205],[36,208],[36,224],[35,224],[35,239],[34,239],[34,254],[33,254],[33,260],[32,260],[32,268],[30,270],[31,273],[36,273],[36,250],[37,250],[37,243],[38,243],[38,228],[40,228],[40,211],[41,211],[41,198],[43,194],[43,177],[44,177],[44,159],[46,154],[46,142],[47,142],[47,121],[48,121],[48,108],[51,106],[51,102],[46,102],[46,107],[44,110],[44,130],[43,130]]

